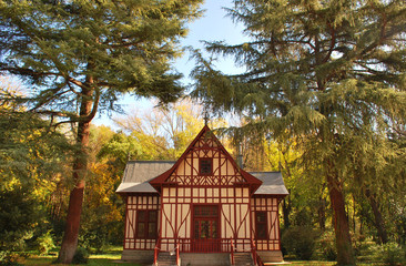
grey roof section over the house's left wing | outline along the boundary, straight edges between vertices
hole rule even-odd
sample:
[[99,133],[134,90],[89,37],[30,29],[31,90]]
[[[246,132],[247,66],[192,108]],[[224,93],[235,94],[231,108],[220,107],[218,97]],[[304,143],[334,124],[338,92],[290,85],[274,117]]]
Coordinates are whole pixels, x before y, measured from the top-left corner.
[[129,161],[116,193],[156,193],[148,181],[172,167],[175,161]]

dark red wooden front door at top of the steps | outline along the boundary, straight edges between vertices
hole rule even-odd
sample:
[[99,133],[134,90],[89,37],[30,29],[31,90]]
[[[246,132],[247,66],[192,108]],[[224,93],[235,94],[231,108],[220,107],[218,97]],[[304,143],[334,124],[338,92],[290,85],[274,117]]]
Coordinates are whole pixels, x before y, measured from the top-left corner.
[[194,205],[192,250],[221,252],[219,238],[219,205]]

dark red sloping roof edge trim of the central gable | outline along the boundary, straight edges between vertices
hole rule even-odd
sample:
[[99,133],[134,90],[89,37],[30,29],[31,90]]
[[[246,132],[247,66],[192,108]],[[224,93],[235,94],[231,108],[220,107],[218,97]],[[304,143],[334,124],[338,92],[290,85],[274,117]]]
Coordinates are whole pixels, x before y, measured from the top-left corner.
[[224,146],[221,144],[221,142],[219,141],[219,139],[212,133],[211,129],[207,125],[204,125],[203,129],[200,131],[200,133],[197,134],[197,136],[191,142],[191,144],[187,146],[187,149],[184,151],[184,153],[182,154],[182,156],[176,161],[176,163],[170,168],[165,173],[156,176],[155,178],[150,181],[150,184],[156,190],[159,191],[161,188],[161,185],[163,183],[165,183],[165,181],[171,176],[171,174],[176,170],[176,167],[180,165],[180,163],[186,157],[186,155],[191,152],[191,150],[195,146],[196,142],[201,139],[201,137],[205,137],[206,134],[212,134],[211,136],[213,137],[213,140],[216,142],[219,149],[230,158],[230,162],[236,167],[238,168],[240,174],[244,177],[244,180],[247,182],[247,184],[250,184],[250,186],[252,187],[252,191],[256,191],[261,184],[262,181],[257,180],[256,177],[254,177],[253,175],[251,175],[250,173],[245,172],[244,170],[240,168],[237,166],[237,164],[235,163],[235,161],[233,160],[233,157],[229,154],[229,152],[224,149]]

